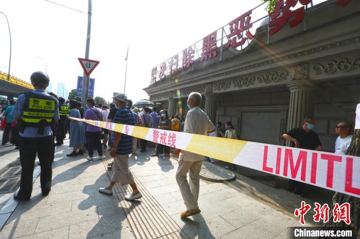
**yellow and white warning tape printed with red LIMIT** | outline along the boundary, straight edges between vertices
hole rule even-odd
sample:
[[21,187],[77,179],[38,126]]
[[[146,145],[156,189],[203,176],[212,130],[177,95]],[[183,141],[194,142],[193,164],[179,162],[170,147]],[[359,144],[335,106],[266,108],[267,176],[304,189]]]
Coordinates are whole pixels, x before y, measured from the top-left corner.
[[360,197],[360,157],[72,118],[243,167]]

